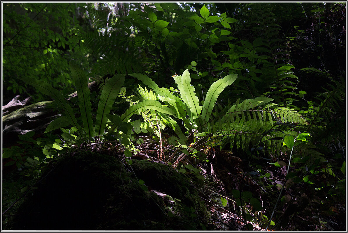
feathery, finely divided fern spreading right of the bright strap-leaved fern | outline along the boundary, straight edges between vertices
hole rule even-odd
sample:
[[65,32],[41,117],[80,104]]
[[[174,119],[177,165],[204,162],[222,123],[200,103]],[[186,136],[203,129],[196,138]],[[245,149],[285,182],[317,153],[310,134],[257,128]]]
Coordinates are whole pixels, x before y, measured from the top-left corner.
[[[280,132],[293,136],[295,136],[296,132],[279,131],[277,129],[281,127],[281,124],[274,125],[275,122],[304,125],[308,123],[295,110],[279,107],[275,103],[270,103],[257,109],[250,105],[250,102],[255,103],[255,105],[261,104],[263,102],[261,99],[264,99],[263,104],[270,101],[268,98],[260,97],[239,103],[238,99],[226,114],[217,118],[215,122],[210,123],[207,131],[196,134],[196,137],[200,138],[210,135],[209,140],[211,140],[211,143],[208,143],[208,145],[211,147],[219,145],[220,148],[223,148],[229,143],[231,149],[236,147],[244,151],[250,150],[252,145],[258,144],[263,139],[263,146],[269,154],[276,155],[282,151],[284,152],[282,141],[272,139],[284,136]],[[273,130],[265,134],[267,129],[271,127]]]

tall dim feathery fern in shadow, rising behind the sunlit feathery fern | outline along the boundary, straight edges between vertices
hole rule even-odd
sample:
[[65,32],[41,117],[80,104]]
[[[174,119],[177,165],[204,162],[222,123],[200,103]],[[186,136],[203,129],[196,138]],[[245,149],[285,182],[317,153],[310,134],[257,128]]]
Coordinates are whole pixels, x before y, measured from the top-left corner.
[[258,57],[260,58],[256,66],[262,65],[260,78],[271,88],[263,94],[271,96],[283,107],[298,110],[299,108],[294,105],[294,101],[298,101],[296,99],[298,94],[295,93],[298,77],[292,72],[295,67],[290,65],[290,61],[284,57],[286,54],[284,50],[287,48],[284,40],[280,39],[281,28],[276,24],[272,6],[269,3],[252,3],[251,8],[254,12],[251,14],[251,24],[258,25],[251,28],[256,37],[253,45],[259,52]]

